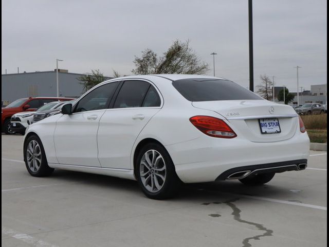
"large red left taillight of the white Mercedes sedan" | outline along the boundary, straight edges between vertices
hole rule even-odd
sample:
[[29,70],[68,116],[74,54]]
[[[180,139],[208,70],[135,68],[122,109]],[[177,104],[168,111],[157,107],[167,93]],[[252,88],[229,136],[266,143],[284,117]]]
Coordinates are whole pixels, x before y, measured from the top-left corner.
[[194,116],[190,118],[192,124],[206,135],[221,138],[234,138],[235,132],[222,119],[208,116]]

